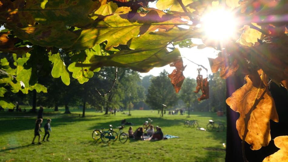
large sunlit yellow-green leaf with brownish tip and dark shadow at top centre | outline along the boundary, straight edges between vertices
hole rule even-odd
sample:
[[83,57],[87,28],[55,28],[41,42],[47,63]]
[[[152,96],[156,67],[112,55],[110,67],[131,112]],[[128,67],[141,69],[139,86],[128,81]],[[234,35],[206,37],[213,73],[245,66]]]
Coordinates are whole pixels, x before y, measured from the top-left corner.
[[154,8],[148,13],[136,13],[131,19],[128,18],[129,11],[130,8],[120,7],[114,14],[105,16],[103,20],[95,20],[90,26],[78,30],[78,39],[67,50],[88,49],[104,41],[107,41],[105,49],[110,50],[119,44],[127,44],[139,34],[154,32],[159,28],[169,30],[176,25],[187,23],[179,16]]

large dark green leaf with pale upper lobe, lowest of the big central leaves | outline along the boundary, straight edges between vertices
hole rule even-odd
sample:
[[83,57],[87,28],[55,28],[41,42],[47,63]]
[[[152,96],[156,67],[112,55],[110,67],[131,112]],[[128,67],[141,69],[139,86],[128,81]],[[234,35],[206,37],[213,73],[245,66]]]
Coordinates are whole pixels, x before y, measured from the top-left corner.
[[148,72],[153,67],[165,66],[180,57],[178,49],[171,52],[166,49],[169,43],[190,38],[192,35],[198,37],[198,32],[198,29],[175,28],[168,32],[145,33],[128,42],[129,48],[134,50],[122,50],[109,56],[94,55],[90,64],[77,63],[75,66],[91,66],[91,70],[102,66],[117,66]]

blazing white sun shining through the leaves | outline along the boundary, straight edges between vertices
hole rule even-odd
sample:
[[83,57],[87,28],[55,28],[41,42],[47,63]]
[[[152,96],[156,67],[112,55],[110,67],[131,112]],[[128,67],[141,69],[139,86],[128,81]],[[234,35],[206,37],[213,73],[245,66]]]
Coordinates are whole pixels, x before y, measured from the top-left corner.
[[209,39],[225,40],[236,34],[236,19],[232,12],[225,9],[211,10],[201,19]]

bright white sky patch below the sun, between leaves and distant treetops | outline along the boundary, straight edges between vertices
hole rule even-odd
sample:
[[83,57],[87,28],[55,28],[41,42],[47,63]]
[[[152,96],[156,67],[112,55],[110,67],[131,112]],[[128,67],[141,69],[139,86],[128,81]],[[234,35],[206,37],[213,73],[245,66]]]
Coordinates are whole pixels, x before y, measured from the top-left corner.
[[[202,44],[201,40],[193,39],[193,43],[195,44]],[[204,48],[204,49],[197,49],[197,47],[192,48],[179,48],[179,51],[182,56],[186,57],[187,59],[203,65],[208,69],[208,75],[211,74],[211,69],[208,61],[208,57],[210,58],[216,58],[217,57],[217,51],[213,48]],[[185,77],[190,78],[196,78],[198,75],[198,66],[187,59],[183,58],[183,65],[187,65],[186,69],[184,70],[183,74]],[[161,73],[163,70],[166,70],[168,73],[172,73],[172,71],[175,69],[175,67],[170,67],[169,65],[159,67],[159,68],[153,68],[148,73],[140,73],[140,76],[146,76],[146,75],[153,75],[158,76],[159,73]],[[202,68],[201,74],[206,76],[206,70]]]

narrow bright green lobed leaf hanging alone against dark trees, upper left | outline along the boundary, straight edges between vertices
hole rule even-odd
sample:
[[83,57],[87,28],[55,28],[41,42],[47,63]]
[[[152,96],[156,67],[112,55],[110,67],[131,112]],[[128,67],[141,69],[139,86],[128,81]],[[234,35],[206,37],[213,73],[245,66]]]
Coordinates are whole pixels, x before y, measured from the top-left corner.
[[59,78],[61,76],[62,82],[68,86],[70,84],[70,76],[64,61],[60,57],[60,54],[52,54],[49,52],[49,61],[53,63],[53,69],[51,72],[52,76],[54,78]]

